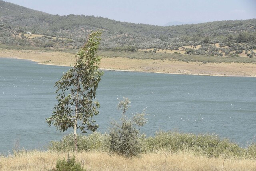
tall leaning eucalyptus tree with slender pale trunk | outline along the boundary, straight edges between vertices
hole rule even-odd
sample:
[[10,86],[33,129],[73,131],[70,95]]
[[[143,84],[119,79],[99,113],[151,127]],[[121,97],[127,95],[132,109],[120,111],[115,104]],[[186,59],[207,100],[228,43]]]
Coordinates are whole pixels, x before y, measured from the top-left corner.
[[46,119],[49,126],[54,125],[60,132],[74,129],[74,149],[77,150],[77,129],[82,133],[98,128],[92,117],[97,115],[100,104],[94,101],[96,89],[103,72],[98,70],[100,56],[96,50],[100,44],[100,32],[89,35],[86,44],[76,54],[76,64],[55,83],[58,93],[53,115]]

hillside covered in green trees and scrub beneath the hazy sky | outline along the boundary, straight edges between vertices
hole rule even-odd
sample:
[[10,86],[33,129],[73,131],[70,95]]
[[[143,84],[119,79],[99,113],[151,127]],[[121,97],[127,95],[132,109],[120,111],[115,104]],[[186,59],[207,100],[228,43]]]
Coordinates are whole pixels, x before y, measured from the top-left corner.
[[[0,9],[2,48],[14,45],[10,47],[74,50],[83,45],[92,30],[102,30],[100,50],[104,51],[171,50],[170,53],[174,53],[183,50],[185,55],[256,56],[256,19],[154,26],[98,16],[52,15],[4,1],[0,1]],[[154,50],[148,50],[150,48]]]

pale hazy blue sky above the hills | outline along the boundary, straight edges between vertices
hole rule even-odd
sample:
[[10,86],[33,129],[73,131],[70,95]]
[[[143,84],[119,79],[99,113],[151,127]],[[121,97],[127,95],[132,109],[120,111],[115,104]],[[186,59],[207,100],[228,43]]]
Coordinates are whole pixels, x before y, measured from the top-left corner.
[[256,0],[4,0],[50,14],[164,25],[256,18]]

